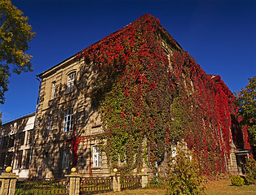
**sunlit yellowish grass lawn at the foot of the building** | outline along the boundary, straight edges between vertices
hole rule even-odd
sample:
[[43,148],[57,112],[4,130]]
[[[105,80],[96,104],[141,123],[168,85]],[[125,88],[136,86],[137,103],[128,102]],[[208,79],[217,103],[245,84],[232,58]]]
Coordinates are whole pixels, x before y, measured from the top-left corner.
[[[232,186],[230,180],[216,180],[205,184],[207,195],[256,195],[256,185]],[[165,189],[134,189],[122,192],[101,193],[105,195],[164,195]]]

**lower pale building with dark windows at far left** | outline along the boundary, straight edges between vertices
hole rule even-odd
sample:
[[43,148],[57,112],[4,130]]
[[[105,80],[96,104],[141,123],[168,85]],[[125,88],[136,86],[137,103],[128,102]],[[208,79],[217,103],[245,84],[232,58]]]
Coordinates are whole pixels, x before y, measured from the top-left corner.
[[20,178],[29,177],[35,114],[26,115],[1,126],[0,168],[11,166]]

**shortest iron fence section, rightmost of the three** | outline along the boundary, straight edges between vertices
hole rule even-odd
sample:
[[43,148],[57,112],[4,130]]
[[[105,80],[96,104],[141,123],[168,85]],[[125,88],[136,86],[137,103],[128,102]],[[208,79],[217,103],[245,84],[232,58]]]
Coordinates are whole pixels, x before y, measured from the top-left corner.
[[141,176],[123,176],[120,180],[121,189],[141,188]]

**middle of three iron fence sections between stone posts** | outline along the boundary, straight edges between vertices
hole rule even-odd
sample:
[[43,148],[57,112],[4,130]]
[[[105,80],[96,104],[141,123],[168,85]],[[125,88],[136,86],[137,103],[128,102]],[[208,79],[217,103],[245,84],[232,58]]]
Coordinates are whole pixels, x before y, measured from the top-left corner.
[[82,177],[80,194],[105,193],[113,190],[113,177]]

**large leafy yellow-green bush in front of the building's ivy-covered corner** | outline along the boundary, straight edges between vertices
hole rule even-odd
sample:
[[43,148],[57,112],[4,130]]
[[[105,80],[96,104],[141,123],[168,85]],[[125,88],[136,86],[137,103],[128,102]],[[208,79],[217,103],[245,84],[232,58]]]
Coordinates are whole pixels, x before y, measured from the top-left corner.
[[205,194],[197,162],[188,152],[178,150],[176,157],[169,159],[167,170],[167,195]]

